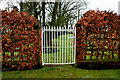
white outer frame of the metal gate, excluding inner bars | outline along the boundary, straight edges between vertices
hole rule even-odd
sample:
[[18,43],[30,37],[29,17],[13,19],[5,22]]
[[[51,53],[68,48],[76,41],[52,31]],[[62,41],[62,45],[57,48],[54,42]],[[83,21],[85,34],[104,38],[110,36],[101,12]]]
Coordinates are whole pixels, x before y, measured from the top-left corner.
[[[44,26],[44,29],[46,28],[46,27],[48,27],[48,26]],[[58,30],[54,30],[54,27],[55,26],[49,26],[49,27],[53,27],[53,28],[51,28],[51,29],[53,29],[53,30],[48,30],[48,31],[57,31],[58,32]],[[57,28],[58,28],[58,26],[56,26]],[[68,27],[69,28],[69,27]],[[72,52],[72,54],[73,54],[73,57],[74,57],[74,59],[73,59],[73,62],[71,62],[71,63],[67,63],[67,62],[65,62],[65,63],[45,63],[44,62],[44,60],[43,60],[43,33],[45,32],[45,31],[47,31],[46,29],[45,29],[45,31],[43,30],[43,27],[41,28],[41,30],[42,30],[42,66],[44,66],[44,65],[63,65],[63,64],[75,64],[76,63],[76,27],[73,27],[73,29],[71,29],[71,31],[73,31],[73,37],[69,37],[69,38],[73,38],[73,46],[71,46],[71,47],[73,47],[72,49],[73,49],[73,52]],[[62,26],[60,26],[60,30],[61,31],[66,31],[67,32],[67,29],[66,29],[66,26],[65,26],[65,29],[62,29]],[[65,33],[66,33],[65,32]],[[66,34],[65,34],[66,35]],[[45,35],[46,36],[46,35]],[[44,44],[45,45],[45,44]],[[61,47],[62,48],[62,47]],[[66,49],[67,49],[67,47],[65,47]],[[71,50],[72,50],[71,49]],[[53,55],[54,56],[54,55]],[[62,58],[61,58],[62,59]],[[67,61],[67,60],[66,60]]]

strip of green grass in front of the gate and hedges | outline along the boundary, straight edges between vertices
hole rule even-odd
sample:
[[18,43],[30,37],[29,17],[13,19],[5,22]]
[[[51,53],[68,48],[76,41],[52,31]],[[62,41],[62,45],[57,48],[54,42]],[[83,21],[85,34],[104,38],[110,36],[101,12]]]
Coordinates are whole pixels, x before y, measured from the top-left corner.
[[86,70],[71,65],[2,72],[2,78],[120,78],[120,69]]

